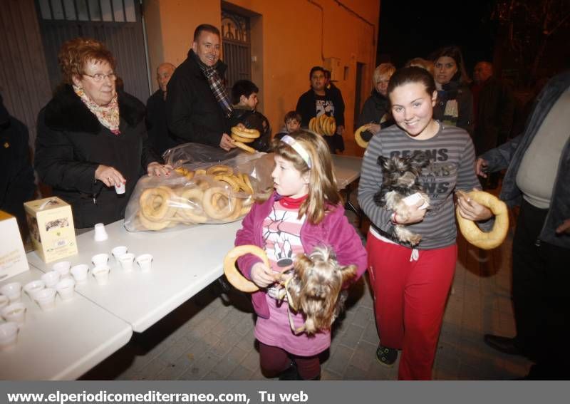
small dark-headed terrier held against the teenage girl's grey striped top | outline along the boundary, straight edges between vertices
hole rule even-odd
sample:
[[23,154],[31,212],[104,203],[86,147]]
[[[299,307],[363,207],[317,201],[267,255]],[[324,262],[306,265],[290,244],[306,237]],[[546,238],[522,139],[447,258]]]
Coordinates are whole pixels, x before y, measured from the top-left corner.
[[[425,152],[417,152],[409,157],[387,158],[380,155],[378,165],[383,175],[382,187],[374,195],[374,202],[378,206],[396,212],[405,222],[408,220],[406,197],[418,193],[426,206],[430,204],[430,197],[423,192],[418,181],[423,167],[430,165],[430,159]],[[422,239],[420,234],[411,232],[404,224],[395,224],[393,235],[400,242],[410,244],[412,247],[418,245]]]

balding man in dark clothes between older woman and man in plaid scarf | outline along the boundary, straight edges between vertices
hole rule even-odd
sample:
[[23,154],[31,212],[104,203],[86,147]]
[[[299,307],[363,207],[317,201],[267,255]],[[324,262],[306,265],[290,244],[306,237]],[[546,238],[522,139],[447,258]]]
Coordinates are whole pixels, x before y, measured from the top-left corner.
[[156,69],[158,90],[150,95],[147,100],[146,124],[148,140],[152,149],[158,155],[162,155],[165,150],[176,145],[175,140],[169,134],[166,123],[166,86],[175,69],[172,63],[160,63],[160,66]]

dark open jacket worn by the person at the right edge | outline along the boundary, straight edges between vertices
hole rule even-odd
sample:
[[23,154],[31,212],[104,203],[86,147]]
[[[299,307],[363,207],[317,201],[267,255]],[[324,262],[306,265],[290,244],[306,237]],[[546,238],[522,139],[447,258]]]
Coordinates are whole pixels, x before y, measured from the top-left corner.
[[[508,167],[507,173],[504,175],[500,198],[509,206],[521,202],[522,192],[517,187],[517,172],[522,157],[527,152],[552,105],[569,86],[570,71],[551,78],[534,102],[534,108],[527,120],[524,133],[481,156],[489,163],[490,172]],[[533,157],[541,158],[541,156]],[[566,141],[560,156],[549,212],[546,215],[539,238],[549,244],[570,249],[570,235],[556,234],[555,232],[556,227],[566,219],[570,219],[570,140]]]

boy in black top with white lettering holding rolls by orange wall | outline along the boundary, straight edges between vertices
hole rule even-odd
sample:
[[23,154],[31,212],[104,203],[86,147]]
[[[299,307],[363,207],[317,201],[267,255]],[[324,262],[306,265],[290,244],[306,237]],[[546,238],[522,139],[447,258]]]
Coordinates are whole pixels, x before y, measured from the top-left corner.
[[325,136],[326,143],[335,153],[336,150],[344,150],[344,102],[340,91],[331,91],[326,88],[325,69],[314,66],[309,73],[311,88],[303,93],[297,101],[296,112],[301,115],[304,128],[309,127],[311,118],[323,114],[334,117],[336,121],[336,133],[333,136]]

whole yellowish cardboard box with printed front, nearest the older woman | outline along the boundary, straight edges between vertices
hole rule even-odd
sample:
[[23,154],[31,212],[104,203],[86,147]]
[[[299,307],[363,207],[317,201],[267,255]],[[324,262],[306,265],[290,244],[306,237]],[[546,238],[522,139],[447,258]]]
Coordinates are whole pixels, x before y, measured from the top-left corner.
[[33,248],[44,262],[77,254],[71,206],[58,197],[24,204]]

